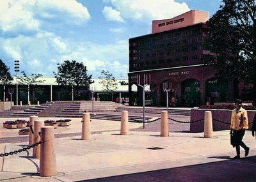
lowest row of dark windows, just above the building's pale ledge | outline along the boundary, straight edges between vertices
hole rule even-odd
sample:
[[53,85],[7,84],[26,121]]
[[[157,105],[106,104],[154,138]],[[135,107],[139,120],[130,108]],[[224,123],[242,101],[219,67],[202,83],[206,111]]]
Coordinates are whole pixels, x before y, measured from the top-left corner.
[[[192,60],[198,59],[198,56],[197,55],[191,56],[191,59]],[[168,59],[159,59],[159,60],[153,60],[153,61],[145,61],[144,64],[145,64],[145,66],[147,66],[147,65],[154,65],[157,63],[164,64],[164,63],[172,63],[173,61],[178,62],[178,61],[188,61],[188,60],[189,60],[189,56],[183,56],[183,57],[175,57],[174,59],[168,58]],[[140,63],[134,63],[134,64],[132,64],[132,67],[136,68],[140,65],[141,65]]]

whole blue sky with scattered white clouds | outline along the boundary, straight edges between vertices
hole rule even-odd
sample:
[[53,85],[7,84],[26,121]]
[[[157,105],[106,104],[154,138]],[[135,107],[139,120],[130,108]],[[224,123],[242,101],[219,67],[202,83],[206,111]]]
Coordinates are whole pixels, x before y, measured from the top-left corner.
[[152,20],[189,10],[213,15],[221,0],[0,0],[0,59],[13,71],[53,76],[57,63],[83,62],[97,78],[127,78],[129,38],[149,34]]

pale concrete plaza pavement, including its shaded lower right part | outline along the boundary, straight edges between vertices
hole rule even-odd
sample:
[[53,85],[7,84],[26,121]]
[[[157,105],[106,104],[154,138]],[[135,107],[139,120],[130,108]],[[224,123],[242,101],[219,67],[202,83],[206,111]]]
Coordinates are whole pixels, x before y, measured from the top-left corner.
[[[10,118],[8,118],[10,120]],[[28,119],[28,118],[27,118]],[[52,118],[53,119],[53,118]],[[1,121],[4,119],[1,118]],[[129,123],[129,135],[120,135],[119,121],[92,119],[91,140],[81,140],[81,119],[55,130],[63,137],[55,139],[57,176],[38,176],[39,160],[31,158],[32,149],[0,158],[0,181],[255,181],[256,143],[250,131],[244,142],[250,147],[247,158],[231,160],[236,150],[230,146],[229,131],[204,133],[141,131],[141,124]],[[147,126],[148,125],[148,126]],[[158,128],[159,122],[147,124]],[[149,127],[150,126],[150,127]],[[173,125],[170,125],[171,127]],[[139,129],[137,129],[139,128]],[[153,127],[154,128],[154,127]],[[101,131],[101,132],[100,132]],[[171,130],[172,131],[172,130]],[[0,139],[17,140],[17,130],[0,129]],[[65,137],[67,133],[77,133]],[[20,140],[19,140],[20,141]],[[0,153],[28,144],[5,142]],[[241,156],[244,151],[241,149]]]

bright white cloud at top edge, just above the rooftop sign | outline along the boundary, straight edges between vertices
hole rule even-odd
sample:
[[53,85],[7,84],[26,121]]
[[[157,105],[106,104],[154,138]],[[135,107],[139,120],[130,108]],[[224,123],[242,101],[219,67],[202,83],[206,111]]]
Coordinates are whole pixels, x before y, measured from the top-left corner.
[[157,20],[170,19],[189,11],[188,4],[174,0],[108,0],[125,19]]

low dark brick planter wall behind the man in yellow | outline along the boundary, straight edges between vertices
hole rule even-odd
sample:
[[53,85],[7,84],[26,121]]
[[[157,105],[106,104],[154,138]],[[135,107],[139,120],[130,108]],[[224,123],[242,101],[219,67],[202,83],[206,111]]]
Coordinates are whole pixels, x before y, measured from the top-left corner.
[[[204,112],[211,111],[212,112],[212,128],[213,131],[221,131],[221,130],[230,130],[230,125],[220,123],[218,121],[214,121],[213,119],[218,119],[225,123],[230,123],[232,110],[226,109],[197,109],[194,108],[191,110],[191,118],[190,121],[196,121],[198,119],[204,119]],[[256,114],[256,110],[247,110],[248,112],[248,121],[251,123],[253,121],[254,115]],[[252,124],[249,125],[249,130],[251,130]],[[190,124],[190,132],[204,132],[204,121],[200,121],[198,123]]]

